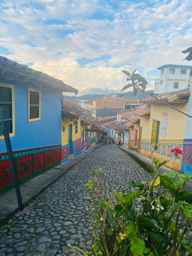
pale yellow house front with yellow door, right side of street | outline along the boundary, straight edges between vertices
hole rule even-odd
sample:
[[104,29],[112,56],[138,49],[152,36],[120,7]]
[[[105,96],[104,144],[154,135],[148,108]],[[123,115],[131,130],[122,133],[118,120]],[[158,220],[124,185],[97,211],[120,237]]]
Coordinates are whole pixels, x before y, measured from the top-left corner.
[[[172,104],[172,106],[187,112],[187,102],[185,101]],[[150,116],[140,117],[140,153],[149,156],[153,150],[151,144],[156,142],[153,157],[160,161],[168,160],[166,166],[180,170],[181,155],[175,157],[174,161],[170,150],[174,147],[182,149],[185,123],[186,115],[163,103],[151,104]]]

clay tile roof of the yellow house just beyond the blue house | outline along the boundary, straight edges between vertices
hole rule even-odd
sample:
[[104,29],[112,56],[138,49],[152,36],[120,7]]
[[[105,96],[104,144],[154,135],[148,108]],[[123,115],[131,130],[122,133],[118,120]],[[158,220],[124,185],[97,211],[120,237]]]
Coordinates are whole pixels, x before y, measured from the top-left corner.
[[82,118],[86,115],[90,115],[91,112],[87,109],[72,103],[70,99],[64,98],[62,101],[62,118]]

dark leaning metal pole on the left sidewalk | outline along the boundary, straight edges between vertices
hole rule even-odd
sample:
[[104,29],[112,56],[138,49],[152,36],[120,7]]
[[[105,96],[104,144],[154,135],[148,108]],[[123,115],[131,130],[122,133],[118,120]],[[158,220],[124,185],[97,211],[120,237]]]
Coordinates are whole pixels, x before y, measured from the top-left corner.
[[15,188],[16,197],[17,197],[17,201],[18,201],[18,208],[19,208],[19,210],[23,210],[22,198],[21,198],[20,188],[19,188],[19,184],[18,184],[18,177],[17,177],[17,174],[16,174],[15,166],[14,166],[14,159],[13,159],[13,154],[12,154],[10,137],[9,137],[9,133],[8,133],[8,129],[7,129],[7,124],[6,124],[5,121],[2,121],[2,131],[3,131],[3,134],[4,134],[4,140],[5,140],[5,144],[6,144],[6,150],[7,150],[7,153],[8,153],[10,168],[11,168],[11,171],[12,171],[12,176],[13,176],[13,181],[14,181],[14,188]]

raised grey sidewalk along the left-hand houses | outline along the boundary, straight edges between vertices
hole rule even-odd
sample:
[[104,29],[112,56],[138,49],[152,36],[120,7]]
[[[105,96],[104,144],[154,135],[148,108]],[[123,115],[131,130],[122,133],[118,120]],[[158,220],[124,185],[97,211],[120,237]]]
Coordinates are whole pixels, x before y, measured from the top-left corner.
[[[88,154],[94,151],[96,148],[102,146],[103,143],[91,146],[83,151],[81,154],[75,156],[73,159],[59,164],[52,169],[49,169],[42,174],[26,181],[20,185],[20,192],[23,201],[23,206],[26,206],[30,200],[36,195],[42,192],[45,188],[51,185],[56,179],[65,174],[70,168],[84,159]],[[16,199],[16,193],[14,188],[0,194],[0,225],[2,225],[6,219],[17,212],[18,203]]]

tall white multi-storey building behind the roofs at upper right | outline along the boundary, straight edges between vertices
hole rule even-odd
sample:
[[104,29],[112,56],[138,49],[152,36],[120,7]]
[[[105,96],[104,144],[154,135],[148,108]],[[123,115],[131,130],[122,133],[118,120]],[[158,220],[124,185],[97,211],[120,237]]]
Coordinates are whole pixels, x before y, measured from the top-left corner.
[[166,64],[157,69],[160,70],[160,78],[155,79],[154,93],[181,90],[192,84],[192,66]]

